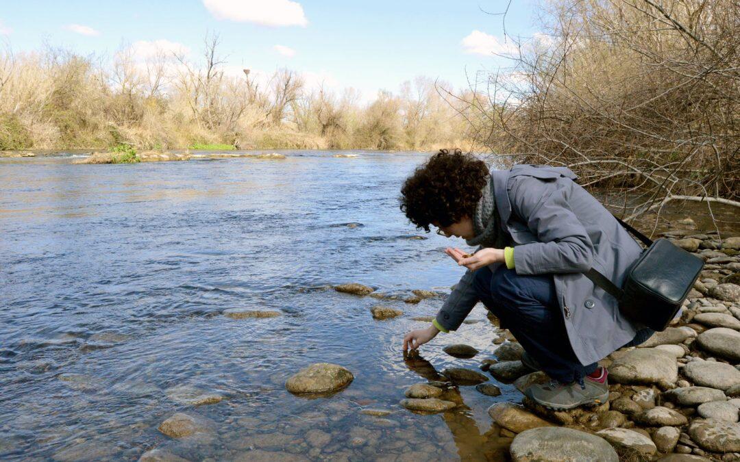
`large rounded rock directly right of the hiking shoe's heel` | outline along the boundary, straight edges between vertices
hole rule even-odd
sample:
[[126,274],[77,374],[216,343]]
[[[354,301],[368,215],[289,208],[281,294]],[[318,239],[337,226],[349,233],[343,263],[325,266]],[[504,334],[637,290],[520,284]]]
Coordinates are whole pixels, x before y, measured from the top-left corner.
[[619,384],[675,384],[676,358],[655,348],[630,350],[608,367],[610,378]]

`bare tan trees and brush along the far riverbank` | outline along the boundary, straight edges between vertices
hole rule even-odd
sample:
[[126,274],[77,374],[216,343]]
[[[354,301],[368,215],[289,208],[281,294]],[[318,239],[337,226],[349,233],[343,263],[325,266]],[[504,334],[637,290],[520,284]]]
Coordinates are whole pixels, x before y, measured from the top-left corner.
[[[468,123],[417,78],[370,103],[352,89],[309,87],[299,72],[224,72],[218,36],[203,55],[123,47],[110,59],[44,47],[0,52],[0,149],[436,149],[460,146]],[[454,103],[453,103],[454,104]]]

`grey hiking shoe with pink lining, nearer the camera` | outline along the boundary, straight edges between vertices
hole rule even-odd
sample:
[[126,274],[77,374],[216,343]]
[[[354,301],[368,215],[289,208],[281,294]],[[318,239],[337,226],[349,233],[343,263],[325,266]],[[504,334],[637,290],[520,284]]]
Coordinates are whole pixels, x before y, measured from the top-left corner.
[[[592,378],[593,376],[597,378]],[[532,385],[524,394],[537,404],[552,410],[568,410],[584,404],[602,404],[609,398],[606,376],[606,369],[602,367],[592,376],[585,377],[583,385],[577,381],[571,384],[551,381],[544,385]]]

